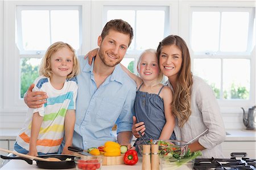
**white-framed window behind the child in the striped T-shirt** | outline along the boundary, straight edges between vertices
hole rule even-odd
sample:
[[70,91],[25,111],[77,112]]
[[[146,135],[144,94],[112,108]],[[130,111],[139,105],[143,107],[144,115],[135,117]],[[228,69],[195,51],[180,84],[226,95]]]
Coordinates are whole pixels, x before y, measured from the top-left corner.
[[20,57],[20,98],[38,77],[40,61],[49,45],[66,42],[81,47],[80,6],[17,6],[16,44]]

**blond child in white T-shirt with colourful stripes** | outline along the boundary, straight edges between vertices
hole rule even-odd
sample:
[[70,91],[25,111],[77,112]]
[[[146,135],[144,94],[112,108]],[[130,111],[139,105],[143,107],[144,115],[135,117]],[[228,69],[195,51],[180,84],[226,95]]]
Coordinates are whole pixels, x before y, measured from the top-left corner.
[[26,122],[14,144],[14,150],[32,156],[56,154],[63,140],[63,154],[72,145],[75,125],[75,103],[79,64],[75,50],[67,43],[53,43],[42,59],[33,91],[48,95],[47,103],[38,109],[29,109]]

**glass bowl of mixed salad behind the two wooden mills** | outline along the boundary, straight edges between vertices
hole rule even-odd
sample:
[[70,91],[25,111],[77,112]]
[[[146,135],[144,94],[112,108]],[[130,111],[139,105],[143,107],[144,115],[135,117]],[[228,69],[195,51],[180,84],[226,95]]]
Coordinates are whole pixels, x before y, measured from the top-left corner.
[[[188,151],[188,144],[186,144],[187,142],[181,141],[181,140],[152,140],[152,142],[150,142],[150,140],[148,140],[146,142],[149,144],[158,144],[158,146],[159,146],[158,154],[160,156],[170,156],[170,154],[171,155],[177,154],[180,157],[182,157]],[[139,148],[139,152],[142,155],[143,154],[143,144],[144,144],[143,140],[138,140],[136,142],[136,144]]]

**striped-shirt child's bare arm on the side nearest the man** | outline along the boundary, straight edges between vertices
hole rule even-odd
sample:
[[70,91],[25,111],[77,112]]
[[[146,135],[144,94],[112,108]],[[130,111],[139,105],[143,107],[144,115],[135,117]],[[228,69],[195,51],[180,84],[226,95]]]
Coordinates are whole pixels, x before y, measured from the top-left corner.
[[72,151],[69,151],[68,147],[72,146],[75,121],[76,121],[75,110],[68,110],[65,115],[65,122],[64,122],[65,146],[63,148],[62,154],[66,154],[66,155],[72,154]]

